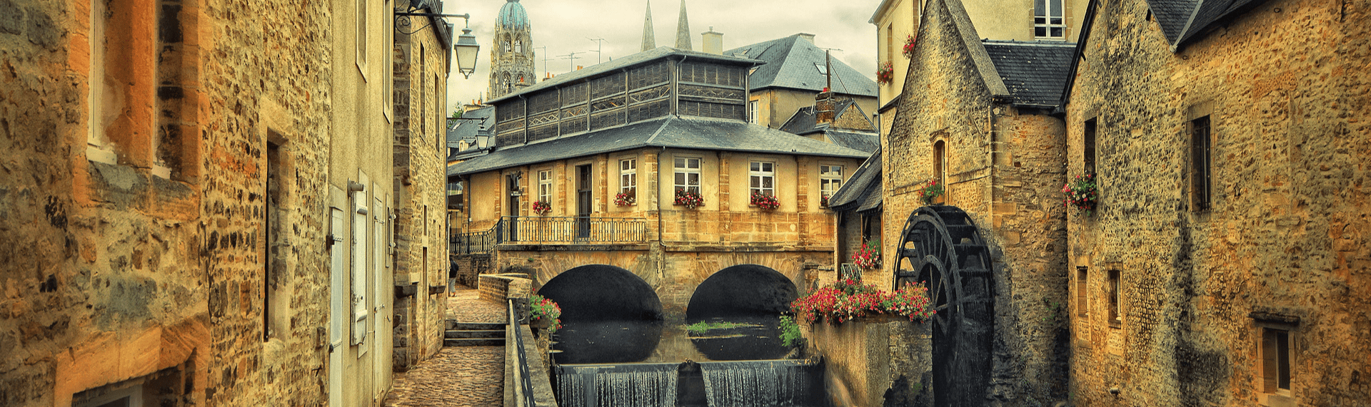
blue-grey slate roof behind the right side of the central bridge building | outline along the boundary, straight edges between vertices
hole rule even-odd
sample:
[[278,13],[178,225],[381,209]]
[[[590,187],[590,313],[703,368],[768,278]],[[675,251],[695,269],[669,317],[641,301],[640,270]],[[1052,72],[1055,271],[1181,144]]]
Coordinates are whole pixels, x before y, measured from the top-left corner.
[[[724,51],[724,55],[746,56],[766,62],[749,81],[751,90],[791,88],[820,92],[827,79],[814,66],[824,66],[824,49],[814,47],[799,34],[757,42]],[[876,81],[866,78],[839,59],[832,60],[834,92],[876,97]]]

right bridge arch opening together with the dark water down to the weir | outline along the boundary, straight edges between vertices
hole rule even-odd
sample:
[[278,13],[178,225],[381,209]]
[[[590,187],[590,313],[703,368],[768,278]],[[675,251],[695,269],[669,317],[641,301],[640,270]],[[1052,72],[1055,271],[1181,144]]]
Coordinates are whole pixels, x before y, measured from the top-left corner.
[[691,332],[691,344],[710,360],[781,358],[790,348],[780,343],[779,318],[795,297],[795,284],[771,267],[738,264],[720,270],[695,288],[686,322],[736,326]]

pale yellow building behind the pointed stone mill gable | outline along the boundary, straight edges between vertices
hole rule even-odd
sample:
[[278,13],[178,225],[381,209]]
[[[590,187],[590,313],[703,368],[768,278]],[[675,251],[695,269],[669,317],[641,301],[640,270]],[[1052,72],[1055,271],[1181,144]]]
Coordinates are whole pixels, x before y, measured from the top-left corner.
[[[1075,42],[1089,0],[993,0],[969,1],[962,8],[984,40]],[[925,1],[882,0],[869,23],[876,25],[877,66],[890,63],[894,79],[879,88],[880,136],[888,136],[905,88],[909,59],[905,42],[917,37]],[[1013,10],[1013,11],[1008,11]],[[1024,12],[1017,12],[1023,10]]]

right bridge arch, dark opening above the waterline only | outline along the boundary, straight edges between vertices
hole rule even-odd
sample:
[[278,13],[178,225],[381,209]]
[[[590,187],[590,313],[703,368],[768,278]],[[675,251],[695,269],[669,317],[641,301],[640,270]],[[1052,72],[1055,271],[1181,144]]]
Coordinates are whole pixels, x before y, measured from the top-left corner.
[[795,284],[775,269],[760,264],[729,266],[695,286],[686,306],[686,321],[780,314],[790,308],[790,301],[795,297]]

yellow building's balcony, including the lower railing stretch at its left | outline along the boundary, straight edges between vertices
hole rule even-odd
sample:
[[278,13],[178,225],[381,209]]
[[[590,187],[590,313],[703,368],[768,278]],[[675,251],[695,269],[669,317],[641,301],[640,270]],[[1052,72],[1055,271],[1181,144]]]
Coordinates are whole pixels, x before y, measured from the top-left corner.
[[618,245],[647,243],[646,218],[503,217],[489,230],[454,233],[448,252],[488,254],[498,245]]

